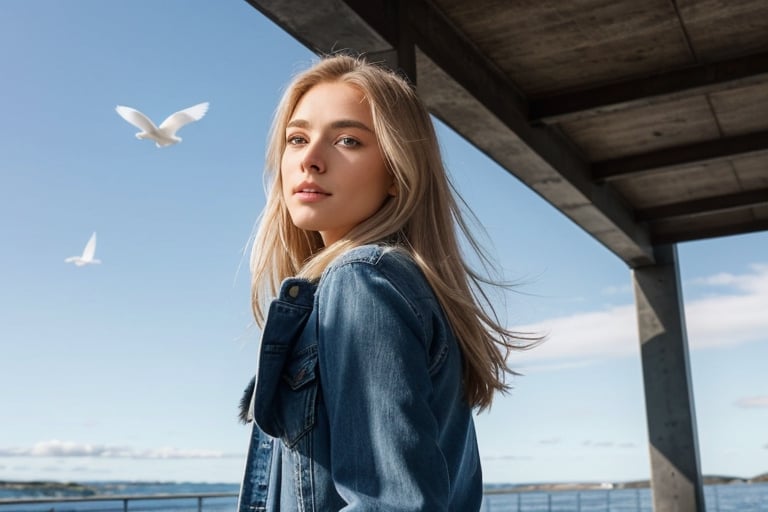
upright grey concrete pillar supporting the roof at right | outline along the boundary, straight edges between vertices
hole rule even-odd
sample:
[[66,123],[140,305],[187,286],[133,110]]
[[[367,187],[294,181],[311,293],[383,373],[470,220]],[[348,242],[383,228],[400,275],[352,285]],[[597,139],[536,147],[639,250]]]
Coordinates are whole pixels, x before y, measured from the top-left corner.
[[677,249],[654,248],[656,263],[633,270],[655,512],[703,512],[688,339]]

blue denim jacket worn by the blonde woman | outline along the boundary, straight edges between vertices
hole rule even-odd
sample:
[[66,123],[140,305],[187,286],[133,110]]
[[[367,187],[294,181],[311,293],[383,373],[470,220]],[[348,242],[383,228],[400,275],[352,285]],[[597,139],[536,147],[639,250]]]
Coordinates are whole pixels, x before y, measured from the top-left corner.
[[286,279],[259,352],[239,512],[480,509],[459,346],[404,252]]

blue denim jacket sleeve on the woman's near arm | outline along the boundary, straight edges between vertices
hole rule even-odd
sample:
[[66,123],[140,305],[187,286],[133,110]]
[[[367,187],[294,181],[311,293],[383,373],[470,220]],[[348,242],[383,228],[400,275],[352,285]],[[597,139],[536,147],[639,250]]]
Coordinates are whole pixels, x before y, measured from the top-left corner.
[[320,382],[342,510],[446,510],[448,470],[430,407],[431,319],[375,266],[342,265],[324,281]]

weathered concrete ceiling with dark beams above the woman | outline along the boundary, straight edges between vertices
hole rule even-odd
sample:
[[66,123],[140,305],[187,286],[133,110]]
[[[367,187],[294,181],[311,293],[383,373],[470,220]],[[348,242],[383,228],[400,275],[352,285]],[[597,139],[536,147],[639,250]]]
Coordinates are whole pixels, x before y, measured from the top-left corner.
[[318,54],[396,63],[632,268],[768,230],[765,0],[247,1]]

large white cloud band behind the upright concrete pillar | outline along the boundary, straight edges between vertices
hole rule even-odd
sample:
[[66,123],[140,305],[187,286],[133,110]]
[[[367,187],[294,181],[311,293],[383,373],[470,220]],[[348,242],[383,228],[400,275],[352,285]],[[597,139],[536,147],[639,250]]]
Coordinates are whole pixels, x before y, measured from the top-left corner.
[[[768,264],[745,274],[717,274],[694,281],[714,292],[685,302],[688,343],[692,350],[768,339]],[[525,373],[547,370],[542,360],[585,361],[639,353],[634,304],[556,317],[516,330],[547,335],[540,346],[515,354]],[[529,364],[533,363],[533,364]],[[565,364],[565,363],[558,363]]]

